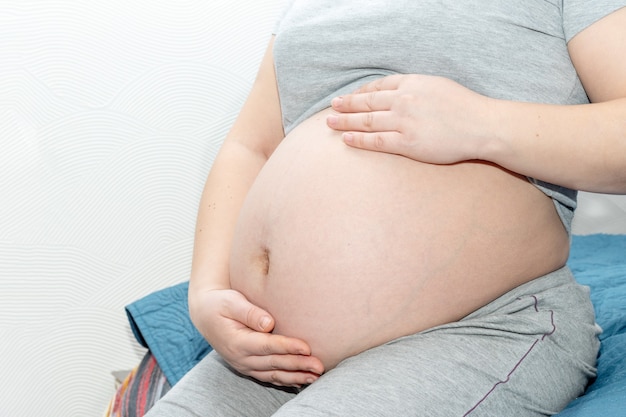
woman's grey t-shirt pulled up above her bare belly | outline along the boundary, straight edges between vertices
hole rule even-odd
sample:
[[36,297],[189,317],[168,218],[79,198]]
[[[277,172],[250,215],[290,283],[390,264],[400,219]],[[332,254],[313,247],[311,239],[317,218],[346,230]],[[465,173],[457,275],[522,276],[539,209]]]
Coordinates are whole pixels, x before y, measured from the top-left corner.
[[[589,100],[567,42],[626,0],[293,0],[276,26],[285,132],[390,74],[450,78],[493,98]],[[571,230],[576,191],[531,179]]]

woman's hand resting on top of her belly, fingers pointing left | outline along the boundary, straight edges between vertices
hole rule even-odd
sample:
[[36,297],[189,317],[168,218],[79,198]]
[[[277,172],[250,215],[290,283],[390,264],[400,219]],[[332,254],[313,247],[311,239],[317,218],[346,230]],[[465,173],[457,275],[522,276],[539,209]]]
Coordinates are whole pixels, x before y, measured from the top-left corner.
[[333,99],[327,124],[356,148],[452,164],[480,159],[489,101],[447,78],[391,75]]

